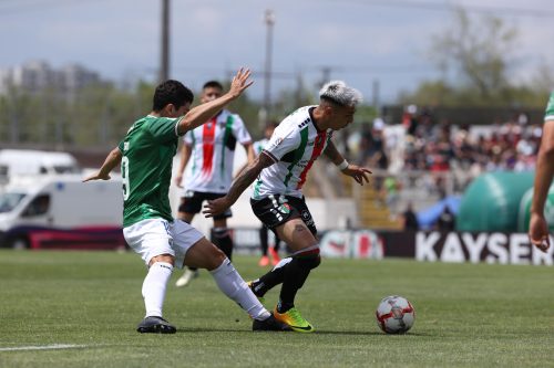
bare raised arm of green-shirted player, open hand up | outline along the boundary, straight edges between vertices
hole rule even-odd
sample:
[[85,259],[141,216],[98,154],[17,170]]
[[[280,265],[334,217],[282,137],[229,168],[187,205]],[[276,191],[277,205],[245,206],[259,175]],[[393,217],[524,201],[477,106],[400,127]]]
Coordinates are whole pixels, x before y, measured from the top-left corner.
[[203,125],[212,116],[217,114],[217,112],[219,112],[225,105],[234,99],[237,99],[238,96],[240,96],[240,94],[254,83],[254,81],[248,81],[250,71],[243,70],[240,67],[237,74],[233,77],[229,91],[219,98],[198,105],[186,113],[186,115],[178,122],[177,133],[183,135],[188,130]]

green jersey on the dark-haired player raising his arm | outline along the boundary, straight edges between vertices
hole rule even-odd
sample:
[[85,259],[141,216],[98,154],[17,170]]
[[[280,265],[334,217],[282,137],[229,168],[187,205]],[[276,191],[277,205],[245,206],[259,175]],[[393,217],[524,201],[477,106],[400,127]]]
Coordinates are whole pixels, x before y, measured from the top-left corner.
[[148,115],[120,143],[124,228],[145,219],[173,221],[168,193],[178,120]]

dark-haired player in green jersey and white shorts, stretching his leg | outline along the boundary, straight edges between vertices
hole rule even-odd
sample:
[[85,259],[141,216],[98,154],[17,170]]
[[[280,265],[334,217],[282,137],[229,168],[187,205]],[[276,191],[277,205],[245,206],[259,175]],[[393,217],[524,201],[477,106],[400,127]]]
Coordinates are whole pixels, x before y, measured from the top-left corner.
[[142,294],[145,318],[140,333],[173,334],[162,309],[173,267],[207,269],[217,286],[254,319],[254,330],[288,330],[258,302],[225,254],[196,229],[171,214],[168,190],[178,137],[207,122],[252,85],[248,70],[237,72],[222,97],[191,109],[193,93],[177,81],[156,87],[152,112],[136,120],[100,170],[84,179],[109,180],[121,164],[123,234],[148,266]]

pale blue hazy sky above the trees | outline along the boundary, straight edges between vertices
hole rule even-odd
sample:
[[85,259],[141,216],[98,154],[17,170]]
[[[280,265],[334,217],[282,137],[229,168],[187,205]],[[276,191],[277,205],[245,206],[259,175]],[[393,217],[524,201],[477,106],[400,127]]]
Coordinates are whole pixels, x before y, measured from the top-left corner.
[[[170,76],[198,91],[247,66],[255,73],[248,93],[261,99],[270,9],[271,96],[295,88],[300,74],[316,93],[327,69],[366,101],[390,103],[441,76],[431,40],[451,27],[453,6],[519,30],[514,80],[554,65],[553,0],[171,0]],[[43,60],[82,64],[115,82],[156,81],[161,9],[162,0],[0,0],[0,69]]]

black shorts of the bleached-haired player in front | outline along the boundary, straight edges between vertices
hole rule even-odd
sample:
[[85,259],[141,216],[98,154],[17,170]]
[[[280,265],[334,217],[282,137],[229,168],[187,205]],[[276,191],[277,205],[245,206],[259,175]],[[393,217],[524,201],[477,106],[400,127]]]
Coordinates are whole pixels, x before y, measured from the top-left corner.
[[300,218],[314,236],[317,234],[316,223],[311,218],[304,197],[273,194],[260,200],[250,199],[250,204],[254,214],[256,214],[259,221],[274,232],[278,225]]

